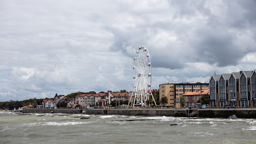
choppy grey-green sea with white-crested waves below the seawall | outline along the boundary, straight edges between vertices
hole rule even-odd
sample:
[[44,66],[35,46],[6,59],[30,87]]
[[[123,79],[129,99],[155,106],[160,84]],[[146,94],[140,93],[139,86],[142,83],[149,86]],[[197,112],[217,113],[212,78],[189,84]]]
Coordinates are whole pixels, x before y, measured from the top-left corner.
[[167,116],[115,115],[80,119],[74,117],[90,115],[38,115],[0,113],[0,144],[256,143],[254,119],[184,119]]

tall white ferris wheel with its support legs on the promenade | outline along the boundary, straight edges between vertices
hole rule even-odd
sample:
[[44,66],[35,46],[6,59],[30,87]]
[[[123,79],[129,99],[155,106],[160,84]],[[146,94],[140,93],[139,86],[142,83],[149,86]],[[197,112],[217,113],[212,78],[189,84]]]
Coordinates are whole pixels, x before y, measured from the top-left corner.
[[[151,61],[146,46],[139,46],[136,50],[133,66],[133,106],[146,106],[146,101],[150,97],[154,100],[151,87]],[[130,98],[130,100],[132,99]],[[130,100],[128,105],[130,104]],[[154,103],[156,104],[155,100]]]

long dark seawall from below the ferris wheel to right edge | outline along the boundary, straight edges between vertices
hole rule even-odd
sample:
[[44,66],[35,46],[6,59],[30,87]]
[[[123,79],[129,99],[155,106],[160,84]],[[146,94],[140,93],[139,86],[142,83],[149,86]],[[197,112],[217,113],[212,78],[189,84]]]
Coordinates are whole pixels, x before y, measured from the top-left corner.
[[[197,110],[197,109],[194,109]],[[107,110],[86,110],[86,114],[117,114],[117,115],[144,115],[144,116],[177,116],[188,117],[188,114],[193,110],[152,110],[152,109],[139,109],[139,110],[120,110],[120,109],[107,109]],[[198,109],[198,117],[202,118],[228,118],[229,116],[236,115],[237,118],[256,118],[256,109]]]

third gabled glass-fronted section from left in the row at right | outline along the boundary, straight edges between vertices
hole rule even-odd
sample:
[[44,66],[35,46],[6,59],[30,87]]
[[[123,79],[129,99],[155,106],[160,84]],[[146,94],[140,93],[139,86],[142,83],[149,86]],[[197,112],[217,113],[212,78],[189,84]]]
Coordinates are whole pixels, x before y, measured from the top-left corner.
[[239,106],[239,78],[240,72],[232,72],[228,79],[228,101],[231,106]]

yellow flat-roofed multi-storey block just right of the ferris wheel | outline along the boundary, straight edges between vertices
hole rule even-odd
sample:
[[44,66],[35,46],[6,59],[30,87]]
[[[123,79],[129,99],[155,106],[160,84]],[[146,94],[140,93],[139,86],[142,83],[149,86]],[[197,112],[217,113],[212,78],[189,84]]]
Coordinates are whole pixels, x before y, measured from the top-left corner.
[[194,83],[194,84],[160,84],[159,95],[160,100],[166,96],[168,98],[168,104],[166,106],[175,106],[175,98],[179,98],[182,94],[187,92],[195,92],[198,90],[209,89],[208,83]]

